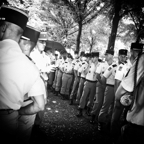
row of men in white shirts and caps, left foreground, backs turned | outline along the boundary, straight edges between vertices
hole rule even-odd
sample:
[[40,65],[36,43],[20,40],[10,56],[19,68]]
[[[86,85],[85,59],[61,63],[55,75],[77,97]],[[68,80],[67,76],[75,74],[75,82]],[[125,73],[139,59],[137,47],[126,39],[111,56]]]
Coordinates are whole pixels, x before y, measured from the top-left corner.
[[27,22],[20,9],[0,8],[0,135],[5,143],[29,143],[47,102],[45,74],[53,70],[43,52],[46,33]]

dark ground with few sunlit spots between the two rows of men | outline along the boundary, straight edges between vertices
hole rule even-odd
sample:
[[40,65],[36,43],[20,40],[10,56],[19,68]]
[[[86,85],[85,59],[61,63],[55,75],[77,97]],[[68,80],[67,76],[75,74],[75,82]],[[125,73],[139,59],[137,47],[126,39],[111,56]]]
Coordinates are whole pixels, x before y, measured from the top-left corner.
[[33,143],[103,143],[98,136],[97,126],[89,123],[90,117],[84,113],[82,118],[78,118],[76,114],[76,105],[70,106],[68,100],[61,100],[59,96],[50,93],[40,125],[42,137],[34,133]]

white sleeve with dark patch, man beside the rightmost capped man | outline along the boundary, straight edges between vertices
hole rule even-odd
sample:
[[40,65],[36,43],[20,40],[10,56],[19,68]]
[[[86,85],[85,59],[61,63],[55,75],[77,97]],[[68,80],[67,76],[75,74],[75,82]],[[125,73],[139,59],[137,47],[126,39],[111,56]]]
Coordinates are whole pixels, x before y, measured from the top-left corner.
[[119,65],[116,69],[115,79],[121,81],[124,77],[124,66]]

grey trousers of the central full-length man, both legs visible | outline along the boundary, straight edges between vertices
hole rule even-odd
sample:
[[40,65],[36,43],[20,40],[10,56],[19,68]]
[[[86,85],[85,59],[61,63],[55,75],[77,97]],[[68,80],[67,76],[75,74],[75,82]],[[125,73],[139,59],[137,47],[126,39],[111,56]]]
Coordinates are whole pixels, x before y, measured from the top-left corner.
[[84,109],[86,104],[88,107],[91,107],[94,102],[95,93],[96,93],[96,82],[90,82],[86,80],[84,83],[84,90],[82,93],[82,97],[80,99],[79,108]]

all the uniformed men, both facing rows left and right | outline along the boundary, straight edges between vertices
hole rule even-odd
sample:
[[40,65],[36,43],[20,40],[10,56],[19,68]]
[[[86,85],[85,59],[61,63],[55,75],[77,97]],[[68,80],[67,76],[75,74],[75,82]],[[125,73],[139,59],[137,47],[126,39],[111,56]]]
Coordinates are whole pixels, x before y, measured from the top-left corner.
[[[144,73],[143,44],[132,43],[131,56],[120,49],[74,56],[45,49],[47,32],[27,24],[18,8],[0,8],[0,135],[5,143],[29,143],[33,125],[39,126],[48,90],[77,105],[99,131],[110,131],[113,143],[142,141],[144,93],[133,93]],[[141,84],[141,83],[140,83]],[[142,92],[142,89],[141,91]],[[138,96],[137,96],[138,95]],[[122,129],[122,131],[121,131]]]

